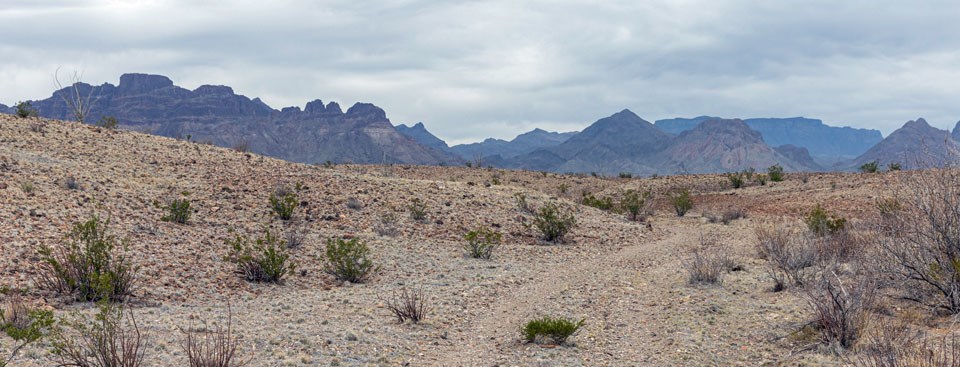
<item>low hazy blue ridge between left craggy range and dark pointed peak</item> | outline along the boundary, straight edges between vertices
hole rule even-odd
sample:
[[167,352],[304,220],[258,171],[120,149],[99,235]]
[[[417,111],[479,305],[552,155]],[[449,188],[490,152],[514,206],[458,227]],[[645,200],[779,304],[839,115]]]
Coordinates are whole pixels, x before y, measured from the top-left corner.
[[540,148],[560,145],[575,134],[576,132],[556,133],[534,129],[517,135],[511,141],[490,138],[479,143],[454,145],[450,150],[467,160],[492,156],[513,158]]

